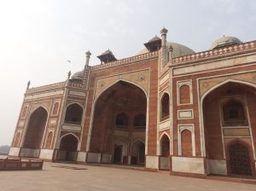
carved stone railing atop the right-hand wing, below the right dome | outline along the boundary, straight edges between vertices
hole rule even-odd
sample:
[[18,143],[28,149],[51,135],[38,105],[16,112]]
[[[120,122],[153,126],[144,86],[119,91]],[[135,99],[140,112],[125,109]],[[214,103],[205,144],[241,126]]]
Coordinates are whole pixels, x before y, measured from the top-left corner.
[[239,45],[233,45],[230,47],[224,47],[219,49],[211,49],[203,52],[198,52],[193,55],[184,55],[181,57],[173,58],[172,63],[180,64],[183,62],[196,61],[196,60],[206,59],[206,58],[210,58],[218,55],[227,55],[230,53],[236,53],[242,50],[253,49],[253,48],[256,48],[256,41],[241,43]]

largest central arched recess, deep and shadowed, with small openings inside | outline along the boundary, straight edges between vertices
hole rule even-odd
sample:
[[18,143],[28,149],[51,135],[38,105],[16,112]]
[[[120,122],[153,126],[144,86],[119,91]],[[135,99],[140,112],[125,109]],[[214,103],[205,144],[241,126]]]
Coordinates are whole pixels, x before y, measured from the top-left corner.
[[[105,90],[95,105],[88,162],[143,165],[146,116],[147,97],[136,85],[119,81]],[[135,152],[137,140],[143,146]]]

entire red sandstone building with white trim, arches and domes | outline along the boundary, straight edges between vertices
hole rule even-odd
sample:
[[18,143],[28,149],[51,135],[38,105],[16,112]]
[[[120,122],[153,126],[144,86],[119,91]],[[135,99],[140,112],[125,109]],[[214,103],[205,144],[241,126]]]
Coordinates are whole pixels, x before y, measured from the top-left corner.
[[138,55],[26,89],[11,156],[144,165],[171,174],[256,176],[256,41],[195,53],[166,40]]

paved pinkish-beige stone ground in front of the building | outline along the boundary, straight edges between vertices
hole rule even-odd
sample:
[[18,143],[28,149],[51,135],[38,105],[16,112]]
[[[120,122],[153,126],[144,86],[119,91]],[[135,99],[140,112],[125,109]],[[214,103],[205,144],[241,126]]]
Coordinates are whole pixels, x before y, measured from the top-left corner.
[[[60,165],[86,168],[87,170],[53,167]],[[45,162],[44,171],[0,171],[0,190],[255,191],[256,185],[174,177],[168,174],[148,171]]]

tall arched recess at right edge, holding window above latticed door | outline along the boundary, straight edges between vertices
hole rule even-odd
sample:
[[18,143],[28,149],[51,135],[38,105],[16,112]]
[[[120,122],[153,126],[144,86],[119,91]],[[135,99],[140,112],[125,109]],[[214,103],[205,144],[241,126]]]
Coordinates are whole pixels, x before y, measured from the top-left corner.
[[[256,123],[253,120],[256,118],[255,107],[255,88],[238,82],[222,84],[204,96],[202,111],[208,172],[219,175],[255,175],[253,163],[249,162],[251,171],[248,170],[249,165],[245,167],[247,172],[239,167],[239,164],[248,164],[248,159],[253,160],[253,155],[250,158],[247,153],[253,151],[251,145],[256,136]],[[247,142],[247,146],[237,142],[228,146],[227,142],[237,139]],[[236,164],[237,169],[231,163]]]

